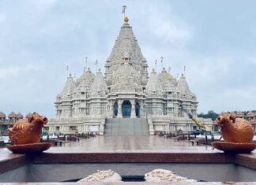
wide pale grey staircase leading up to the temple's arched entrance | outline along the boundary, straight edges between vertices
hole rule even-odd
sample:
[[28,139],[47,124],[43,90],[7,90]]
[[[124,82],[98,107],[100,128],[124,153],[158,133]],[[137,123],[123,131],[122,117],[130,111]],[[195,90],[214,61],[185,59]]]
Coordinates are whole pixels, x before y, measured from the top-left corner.
[[145,118],[107,118],[104,135],[149,135]]

